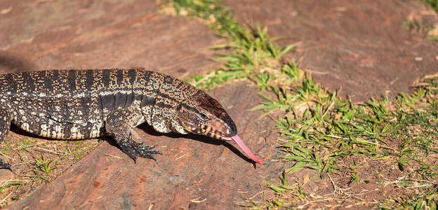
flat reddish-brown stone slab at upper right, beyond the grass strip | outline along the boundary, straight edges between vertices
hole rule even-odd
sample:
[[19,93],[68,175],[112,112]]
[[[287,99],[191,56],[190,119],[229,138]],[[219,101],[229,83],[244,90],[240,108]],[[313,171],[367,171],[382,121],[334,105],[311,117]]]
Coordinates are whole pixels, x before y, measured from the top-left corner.
[[[301,42],[289,53],[317,83],[354,101],[409,92],[413,82],[437,73],[438,42],[404,21],[438,25],[423,1],[225,0],[241,24],[267,26],[279,43]],[[428,22],[428,23],[427,23]]]

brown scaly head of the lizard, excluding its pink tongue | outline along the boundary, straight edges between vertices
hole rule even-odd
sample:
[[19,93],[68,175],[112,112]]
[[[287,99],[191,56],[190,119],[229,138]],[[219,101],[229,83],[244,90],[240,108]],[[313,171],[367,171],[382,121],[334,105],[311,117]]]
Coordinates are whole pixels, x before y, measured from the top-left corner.
[[187,132],[220,140],[231,140],[237,134],[236,125],[223,106],[204,91],[199,90],[175,109]]

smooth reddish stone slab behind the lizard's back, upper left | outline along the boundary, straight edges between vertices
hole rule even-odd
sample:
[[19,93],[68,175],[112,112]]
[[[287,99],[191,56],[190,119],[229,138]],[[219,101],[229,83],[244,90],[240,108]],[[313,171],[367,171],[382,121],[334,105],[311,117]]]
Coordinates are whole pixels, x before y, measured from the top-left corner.
[[154,1],[0,1],[0,72],[145,67],[179,78],[217,65],[222,42]]

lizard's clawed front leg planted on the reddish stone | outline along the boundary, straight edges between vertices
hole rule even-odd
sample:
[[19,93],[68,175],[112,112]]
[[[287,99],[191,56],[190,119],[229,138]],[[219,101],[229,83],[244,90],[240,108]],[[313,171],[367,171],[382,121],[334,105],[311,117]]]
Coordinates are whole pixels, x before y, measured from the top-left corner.
[[133,141],[132,127],[144,121],[141,110],[134,107],[113,111],[105,122],[107,134],[114,137],[119,144],[121,151],[131,157],[135,162],[137,157],[152,158],[156,160],[154,154],[162,154],[160,151],[151,151],[155,146],[142,146],[142,142]]

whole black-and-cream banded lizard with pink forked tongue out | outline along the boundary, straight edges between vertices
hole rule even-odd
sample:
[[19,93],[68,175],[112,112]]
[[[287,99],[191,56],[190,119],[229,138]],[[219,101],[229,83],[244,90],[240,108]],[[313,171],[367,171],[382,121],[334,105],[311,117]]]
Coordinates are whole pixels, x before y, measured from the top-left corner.
[[[0,75],[0,142],[11,123],[51,139],[114,137],[134,161],[159,151],[133,141],[132,127],[234,140],[233,120],[206,92],[172,76],[139,69],[48,70]],[[0,168],[11,165],[0,159]]]

